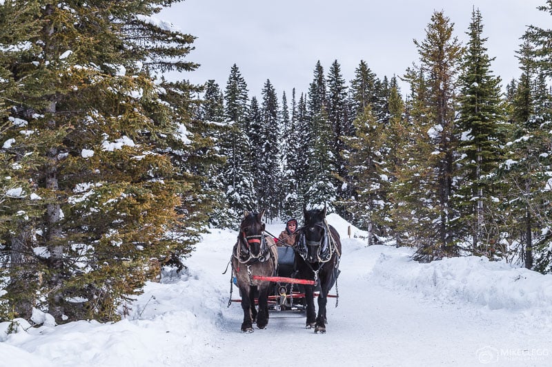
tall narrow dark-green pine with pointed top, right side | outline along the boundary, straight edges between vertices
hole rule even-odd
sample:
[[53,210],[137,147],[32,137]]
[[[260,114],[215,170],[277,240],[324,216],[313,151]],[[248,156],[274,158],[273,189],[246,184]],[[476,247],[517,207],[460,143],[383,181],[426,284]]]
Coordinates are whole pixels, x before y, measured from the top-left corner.
[[[462,208],[459,225],[469,235],[476,253],[493,251],[499,233],[489,233],[487,207],[493,205],[493,185],[490,174],[502,160],[501,136],[498,129],[504,123],[504,108],[500,98],[500,78],[491,74],[491,61],[482,37],[483,23],[479,10],[473,10],[469,25],[469,42],[460,76],[459,164],[460,187],[457,204]],[[493,208],[494,210],[495,208]],[[489,223],[491,224],[491,223]],[[468,240],[468,238],[466,238]]]

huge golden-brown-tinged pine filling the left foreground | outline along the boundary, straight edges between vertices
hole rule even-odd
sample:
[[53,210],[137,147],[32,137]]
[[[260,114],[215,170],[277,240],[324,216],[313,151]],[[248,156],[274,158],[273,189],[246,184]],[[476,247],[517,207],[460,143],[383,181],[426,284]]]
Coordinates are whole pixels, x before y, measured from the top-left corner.
[[[6,40],[28,49],[0,59],[17,82],[1,92],[10,107],[4,136],[14,139],[2,153],[14,182],[30,183],[10,200],[34,207],[12,217],[16,231],[2,233],[12,269],[33,276],[12,278],[3,298],[14,306],[23,300],[57,322],[117,319],[159,262],[190,251],[197,231],[181,233],[184,241],[170,234],[182,229],[181,198],[201,197],[201,178],[172,162],[177,150],[190,152],[188,98],[171,96],[188,85],[156,85],[150,72],[193,70],[181,59],[193,37],[159,28],[153,3],[30,2],[28,20],[38,28]],[[2,29],[13,5],[0,7]],[[172,61],[152,61],[168,55]],[[16,311],[30,315],[27,306]]]

